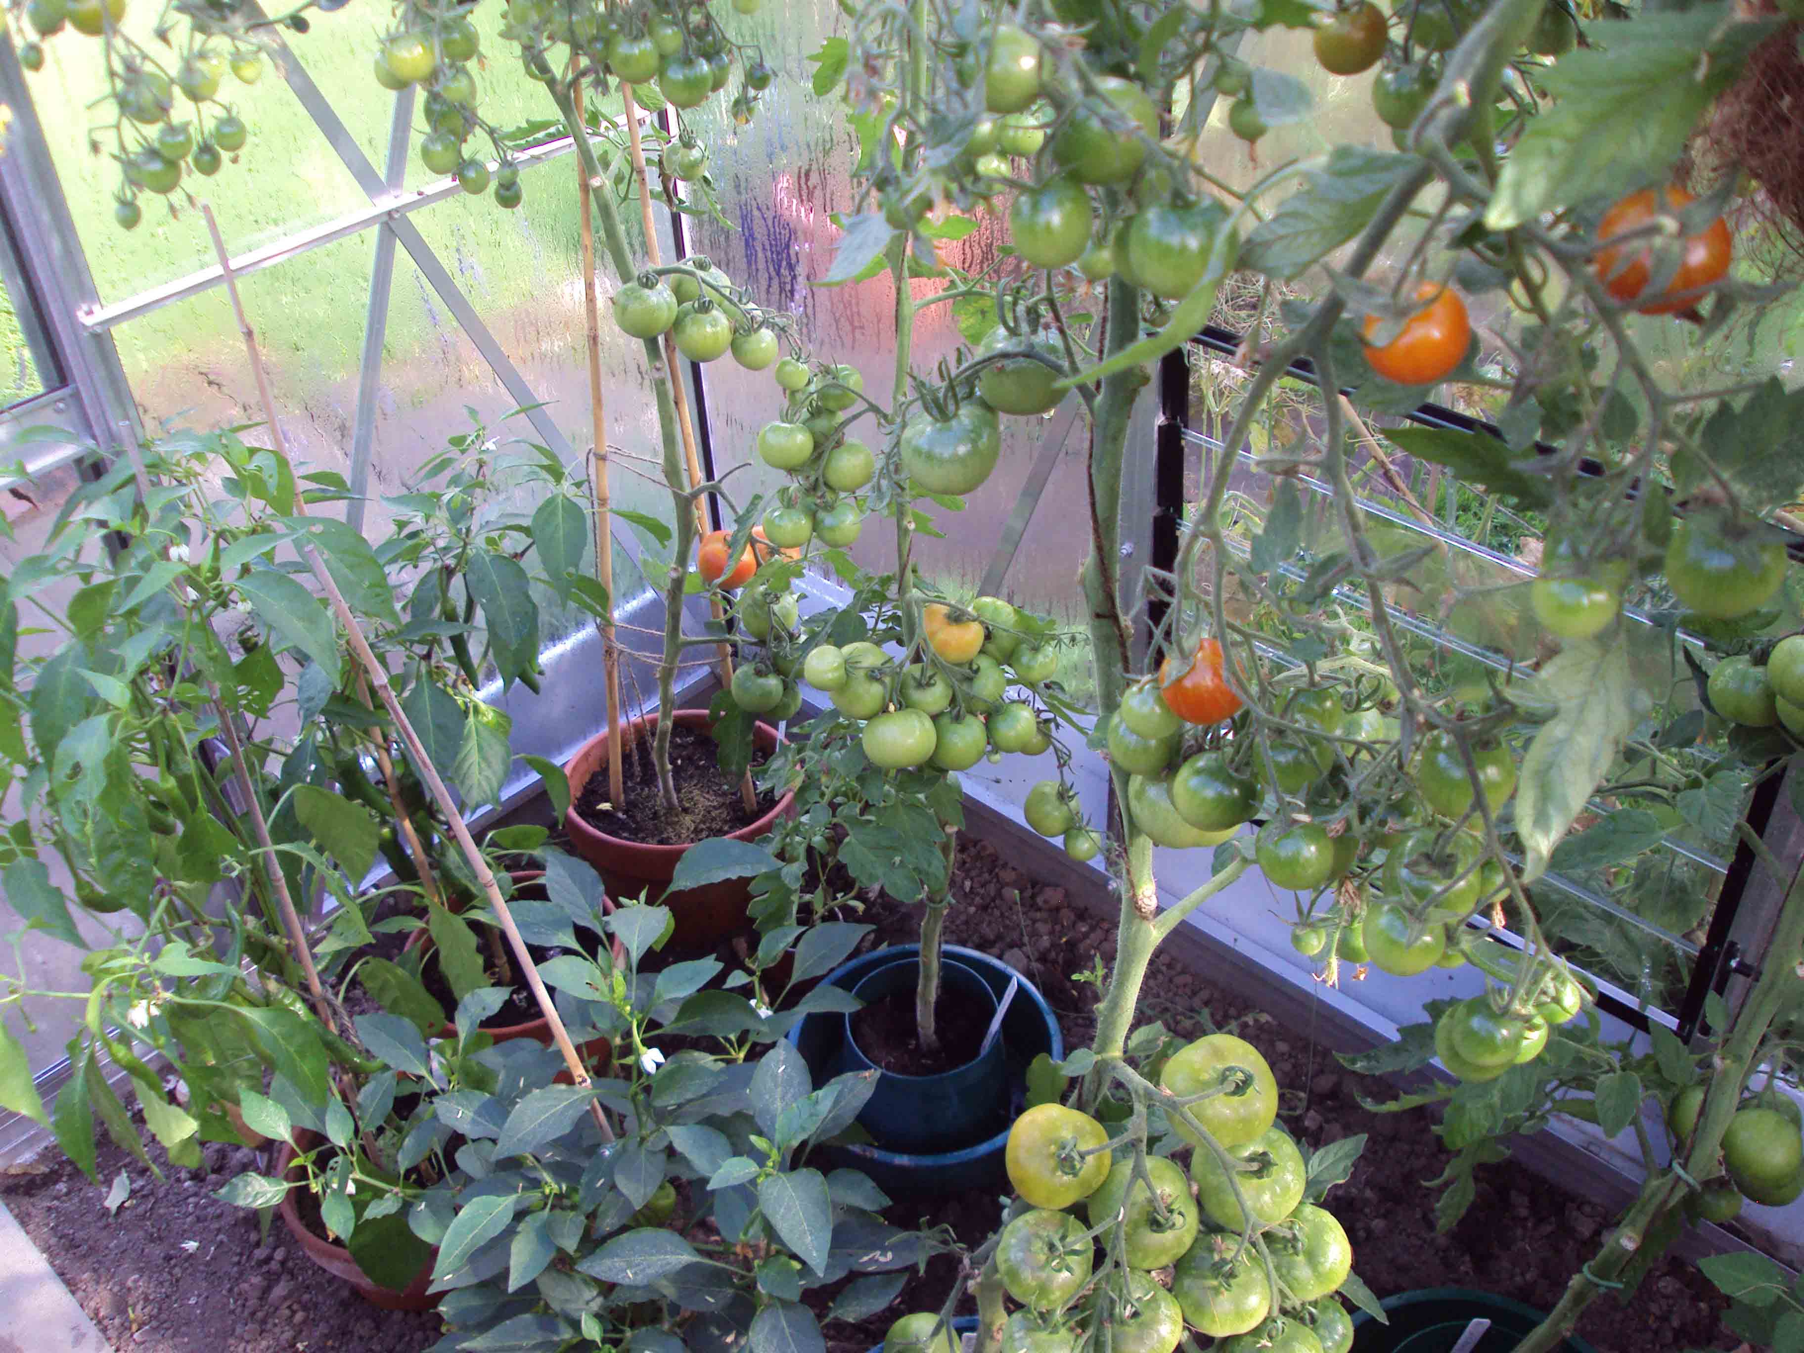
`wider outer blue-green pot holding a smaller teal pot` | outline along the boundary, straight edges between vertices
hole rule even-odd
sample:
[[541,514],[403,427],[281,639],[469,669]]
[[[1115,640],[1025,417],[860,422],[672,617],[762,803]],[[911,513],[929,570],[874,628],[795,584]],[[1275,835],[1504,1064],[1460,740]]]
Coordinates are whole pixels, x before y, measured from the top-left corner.
[[[981,978],[998,999],[1008,990],[1010,978],[1017,978],[1021,983],[1014,1001],[1008,1005],[1008,1014],[1003,1016],[1001,1079],[1007,1088],[1007,1099],[1001,1100],[990,1128],[981,1129],[985,1135],[978,1140],[971,1140],[967,1129],[963,1140],[929,1144],[913,1151],[888,1149],[877,1144],[848,1144],[824,1147],[817,1153],[828,1167],[848,1165],[864,1171],[877,1187],[889,1194],[958,1192],[962,1189],[989,1189],[1003,1183],[1007,1178],[1003,1147],[1008,1144],[1008,1124],[1026,1104],[1028,1063],[1039,1054],[1046,1054],[1054,1061],[1064,1059],[1064,1039],[1059,1035],[1059,1021],[1052,1014],[1052,1007],[1046,1005],[1046,998],[1039,994],[1039,989],[1032,981],[1007,963],[976,949],[945,945],[942,953],[945,960],[953,960]],[[853,958],[850,963],[841,963],[823,981],[855,990],[866,976],[897,963],[907,963],[907,980],[913,983],[918,956],[920,945],[913,943],[873,949],[861,958]],[[788,1037],[808,1063],[815,1084],[837,1075],[844,1068],[848,1043],[844,1016],[808,1016],[790,1030]]]

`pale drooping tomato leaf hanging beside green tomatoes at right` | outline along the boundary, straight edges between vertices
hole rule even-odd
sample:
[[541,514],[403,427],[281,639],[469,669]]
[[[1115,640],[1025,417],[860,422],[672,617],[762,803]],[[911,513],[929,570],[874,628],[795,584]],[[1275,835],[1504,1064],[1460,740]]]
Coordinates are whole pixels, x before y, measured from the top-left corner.
[[1535,684],[1557,713],[1523,758],[1515,794],[1515,830],[1528,853],[1523,882],[1546,871],[1553,848],[1604,781],[1645,704],[1625,644],[1568,642]]

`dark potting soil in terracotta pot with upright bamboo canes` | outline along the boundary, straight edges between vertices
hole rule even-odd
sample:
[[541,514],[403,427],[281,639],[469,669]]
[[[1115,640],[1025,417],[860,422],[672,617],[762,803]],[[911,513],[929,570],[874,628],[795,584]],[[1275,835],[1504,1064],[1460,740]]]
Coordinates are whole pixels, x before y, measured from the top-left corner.
[[[752,749],[752,769],[770,759]],[[608,769],[599,769],[575,794],[575,810],[597,832],[642,846],[686,846],[691,841],[732,835],[778,806],[778,796],[759,790],[758,806],[745,812],[736,781],[720,774],[714,740],[698,729],[676,723],[671,729],[671,779],[682,817],[671,819],[658,797],[658,778],[651,765],[651,740],[628,747],[621,763],[624,803],[608,799]]]

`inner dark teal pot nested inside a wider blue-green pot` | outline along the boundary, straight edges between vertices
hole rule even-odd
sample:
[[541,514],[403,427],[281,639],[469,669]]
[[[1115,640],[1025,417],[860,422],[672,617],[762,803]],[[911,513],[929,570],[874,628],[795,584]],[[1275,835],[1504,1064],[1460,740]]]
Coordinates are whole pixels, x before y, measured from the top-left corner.
[[[871,969],[853,989],[866,1005],[886,996],[913,996],[920,978],[918,958],[900,958]],[[1007,983],[1005,983],[1007,985]],[[972,969],[940,962],[940,990],[963,992],[983,1012],[983,1026],[996,1017],[996,992]],[[1016,994],[1019,998],[1019,992]],[[1008,1068],[1005,1048],[1008,1032],[994,1039],[978,1057],[938,1075],[902,1075],[884,1072],[859,1046],[851,1016],[839,1050],[841,1072],[882,1072],[877,1090],[859,1113],[859,1126],[889,1151],[947,1151],[976,1146],[992,1135],[998,1118],[1008,1111]]]

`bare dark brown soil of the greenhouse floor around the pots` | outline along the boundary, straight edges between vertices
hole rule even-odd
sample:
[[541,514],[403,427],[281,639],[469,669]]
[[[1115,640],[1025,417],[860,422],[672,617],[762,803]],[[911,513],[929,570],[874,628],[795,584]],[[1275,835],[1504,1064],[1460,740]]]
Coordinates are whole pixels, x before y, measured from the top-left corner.
[[[1093,1032],[1099,987],[1073,980],[1113,960],[1113,924],[1005,862],[983,841],[963,842],[947,940],[1021,969],[1059,1014],[1066,1046]],[[864,947],[909,943],[920,911],[889,898],[859,918],[877,929]],[[1422,1111],[1376,1115],[1360,1095],[1385,1099],[1382,1081],[1335,1063],[1306,1032],[1279,1026],[1236,1001],[1176,956],[1162,953],[1140,1003],[1182,1035],[1234,1025],[1272,1063],[1284,1088],[1281,1122],[1302,1142],[1367,1133],[1353,1178],[1330,1194],[1330,1209],[1353,1241],[1355,1272],[1380,1297],[1413,1288],[1470,1286],[1550,1308],[1566,1279],[1591,1257],[1609,1218],[1602,1209],[1503,1162],[1479,1171],[1477,1196],[1447,1236],[1434,1232],[1434,1194],[1423,1187],[1447,1151]],[[1205,1019],[1209,1023],[1205,1023]],[[157,1147],[152,1147],[155,1151]],[[209,1146],[198,1171],[166,1169],[157,1183],[143,1164],[103,1146],[103,1187],[94,1189],[54,1149],[0,1180],[0,1196],[51,1259],[76,1301],[119,1353],[420,1353],[440,1335],[431,1313],[382,1312],[321,1272],[281,1223],[258,1232],[254,1212],[211,1196],[244,1169],[269,1160],[242,1147]],[[108,1216],[105,1185],[124,1171],[132,1194]],[[898,1203],[897,1225],[947,1227],[972,1247],[994,1227],[1001,1198],[960,1194]],[[907,1310],[938,1310],[960,1281],[958,1261],[938,1256],[909,1279],[898,1304],[857,1326],[824,1328],[832,1353],[864,1353]],[[824,1306],[824,1301],[821,1302]],[[1667,1259],[1633,1302],[1600,1299],[1578,1326],[1600,1353],[1667,1353],[1734,1348],[1721,1328],[1723,1301],[1689,1263]],[[972,1310],[965,1299],[962,1310]]]

